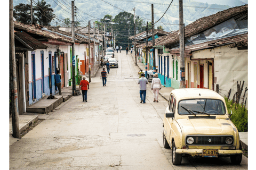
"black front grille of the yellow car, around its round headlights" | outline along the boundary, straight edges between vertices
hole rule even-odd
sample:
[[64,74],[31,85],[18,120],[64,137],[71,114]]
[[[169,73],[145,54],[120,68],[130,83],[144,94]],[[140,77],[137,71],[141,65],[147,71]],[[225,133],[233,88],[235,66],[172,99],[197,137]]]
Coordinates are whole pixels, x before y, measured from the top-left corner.
[[[192,144],[187,143],[187,138],[189,137],[194,138],[194,142]],[[232,135],[188,135],[186,137],[186,145],[200,145],[200,146],[226,145],[227,146],[228,144],[226,143],[226,138],[228,137],[233,139],[233,142],[230,144],[230,145],[233,145],[234,137]]]

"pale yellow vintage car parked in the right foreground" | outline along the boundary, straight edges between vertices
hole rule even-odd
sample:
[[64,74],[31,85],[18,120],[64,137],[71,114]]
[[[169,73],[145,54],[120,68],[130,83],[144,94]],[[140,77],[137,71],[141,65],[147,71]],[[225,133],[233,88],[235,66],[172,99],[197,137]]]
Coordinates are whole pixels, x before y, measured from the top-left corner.
[[172,149],[173,165],[182,156],[230,157],[242,161],[236,126],[228,117],[225,99],[208,89],[175,89],[170,94],[163,120],[164,148]]

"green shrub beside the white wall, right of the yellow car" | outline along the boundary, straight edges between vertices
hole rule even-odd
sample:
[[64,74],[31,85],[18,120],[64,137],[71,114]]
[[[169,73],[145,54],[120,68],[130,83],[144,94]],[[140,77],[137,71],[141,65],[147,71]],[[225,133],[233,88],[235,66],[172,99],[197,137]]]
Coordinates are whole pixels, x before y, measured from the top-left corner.
[[[238,132],[247,132],[248,131],[248,110],[244,106],[242,107],[241,104],[238,104],[235,107],[235,104],[232,104],[232,100],[228,100],[225,97],[228,115],[230,120],[235,124]],[[232,114],[231,114],[232,111]]]

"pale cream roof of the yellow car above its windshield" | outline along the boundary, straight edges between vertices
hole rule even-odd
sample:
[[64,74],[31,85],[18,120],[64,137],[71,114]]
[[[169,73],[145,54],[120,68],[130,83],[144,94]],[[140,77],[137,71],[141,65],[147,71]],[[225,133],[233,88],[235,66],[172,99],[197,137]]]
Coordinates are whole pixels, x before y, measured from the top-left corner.
[[212,98],[223,100],[217,92],[209,89],[196,89],[196,88],[186,88],[186,89],[174,89],[171,94],[173,94],[177,100],[182,99],[198,99],[198,98]]

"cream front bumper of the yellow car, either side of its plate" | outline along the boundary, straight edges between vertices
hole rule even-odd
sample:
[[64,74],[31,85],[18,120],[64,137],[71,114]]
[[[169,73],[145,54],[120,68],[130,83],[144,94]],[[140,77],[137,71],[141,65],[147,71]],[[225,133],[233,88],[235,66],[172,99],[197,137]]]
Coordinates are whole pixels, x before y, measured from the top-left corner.
[[[192,156],[202,156],[203,149],[176,149],[177,154],[189,154]],[[241,155],[242,150],[218,150],[219,155]]]

